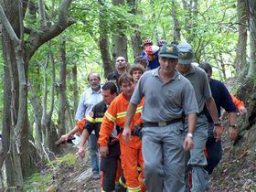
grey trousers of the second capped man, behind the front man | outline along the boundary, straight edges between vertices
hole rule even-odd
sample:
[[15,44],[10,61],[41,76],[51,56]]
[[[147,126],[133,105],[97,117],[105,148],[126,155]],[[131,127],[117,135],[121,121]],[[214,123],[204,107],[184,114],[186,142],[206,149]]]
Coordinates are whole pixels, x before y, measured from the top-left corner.
[[[187,124],[186,124],[187,129]],[[204,167],[208,165],[205,147],[208,140],[208,120],[205,115],[197,117],[197,129],[193,135],[194,147],[186,155],[187,167],[192,168],[192,192],[205,192],[208,189],[208,172]]]

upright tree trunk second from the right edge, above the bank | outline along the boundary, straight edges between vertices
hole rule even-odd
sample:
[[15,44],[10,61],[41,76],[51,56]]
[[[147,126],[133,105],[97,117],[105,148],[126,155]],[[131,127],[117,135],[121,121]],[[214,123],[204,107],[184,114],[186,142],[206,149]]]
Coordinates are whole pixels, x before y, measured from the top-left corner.
[[246,3],[244,0],[237,0],[237,15],[239,22],[239,40],[237,47],[236,59],[234,65],[236,68],[237,76],[241,77],[245,75],[247,70],[246,62],[246,47],[247,47],[247,14],[246,14]]

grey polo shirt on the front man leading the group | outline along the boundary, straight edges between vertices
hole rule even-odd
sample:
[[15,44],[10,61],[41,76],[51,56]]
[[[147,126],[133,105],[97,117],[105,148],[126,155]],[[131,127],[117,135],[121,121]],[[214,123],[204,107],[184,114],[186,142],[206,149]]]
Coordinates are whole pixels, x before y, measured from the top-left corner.
[[146,71],[138,81],[131,103],[139,104],[144,97],[144,122],[171,121],[184,114],[197,113],[195,91],[178,71],[166,83],[160,79],[160,68]]

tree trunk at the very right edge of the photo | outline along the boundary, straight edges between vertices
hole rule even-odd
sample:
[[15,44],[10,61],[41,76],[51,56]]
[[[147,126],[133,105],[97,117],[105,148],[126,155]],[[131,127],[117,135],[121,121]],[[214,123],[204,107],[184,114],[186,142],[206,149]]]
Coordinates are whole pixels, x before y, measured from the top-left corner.
[[250,67],[248,76],[252,77],[256,73],[256,1],[249,0],[249,32],[250,32]]

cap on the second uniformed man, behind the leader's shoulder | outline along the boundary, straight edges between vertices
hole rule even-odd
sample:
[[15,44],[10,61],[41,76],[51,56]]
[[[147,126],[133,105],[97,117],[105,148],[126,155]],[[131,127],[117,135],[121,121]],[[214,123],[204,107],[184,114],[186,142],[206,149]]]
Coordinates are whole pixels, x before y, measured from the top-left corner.
[[187,65],[193,61],[193,50],[192,47],[187,43],[180,43],[177,45],[178,48],[178,63]]

